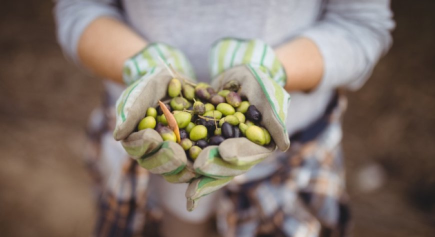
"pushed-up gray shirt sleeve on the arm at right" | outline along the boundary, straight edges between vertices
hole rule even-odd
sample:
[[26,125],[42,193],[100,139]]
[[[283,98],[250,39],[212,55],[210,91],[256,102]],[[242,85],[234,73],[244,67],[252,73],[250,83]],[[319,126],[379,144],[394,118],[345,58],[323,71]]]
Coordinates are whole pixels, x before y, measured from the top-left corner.
[[360,88],[392,43],[389,0],[328,0],[321,18],[301,36],[314,41],[324,61],[318,90]]

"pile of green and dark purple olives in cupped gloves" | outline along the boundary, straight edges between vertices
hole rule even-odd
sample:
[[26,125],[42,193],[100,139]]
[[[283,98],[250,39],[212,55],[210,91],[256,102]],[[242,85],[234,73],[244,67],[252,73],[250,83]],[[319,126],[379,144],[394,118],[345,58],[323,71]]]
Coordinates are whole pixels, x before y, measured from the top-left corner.
[[[226,138],[246,137],[260,145],[270,143],[269,132],[259,125],[261,113],[237,92],[240,86],[231,80],[216,92],[209,84],[170,80],[163,108],[170,111],[179,128],[179,144],[187,157],[195,159],[208,145]],[[149,107],[137,129],[153,128],[163,140],[177,141],[160,106]],[[169,115],[171,115],[169,114]]]

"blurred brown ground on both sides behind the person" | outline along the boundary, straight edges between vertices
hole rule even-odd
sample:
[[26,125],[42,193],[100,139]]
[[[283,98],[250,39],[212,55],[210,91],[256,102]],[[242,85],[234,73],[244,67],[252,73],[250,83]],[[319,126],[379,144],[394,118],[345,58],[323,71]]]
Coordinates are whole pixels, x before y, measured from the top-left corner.
[[[87,236],[93,224],[80,157],[102,86],[63,59],[51,8],[0,8],[1,236]],[[393,9],[394,45],[349,93],[344,119],[354,232],[435,236],[435,1],[395,0]],[[375,178],[374,189],[358,177]]]

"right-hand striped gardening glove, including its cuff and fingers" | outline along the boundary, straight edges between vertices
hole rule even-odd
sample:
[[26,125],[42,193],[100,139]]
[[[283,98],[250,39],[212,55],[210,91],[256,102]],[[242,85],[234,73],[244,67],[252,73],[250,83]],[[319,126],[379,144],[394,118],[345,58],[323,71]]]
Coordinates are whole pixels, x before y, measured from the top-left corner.
[[261,112],[260,123],[274,142],[262,146],[238,137],[206,147],[193,163],[196,173],[203,176],[193,179],[187,187],[188,210],[201,196],[245,173],[276,147],[285,151],[290,144],[285,127],[290,96],[283,88],[285,72],[270,46],[259,40],[222,39],[211,49],[210,69],[214,88],[220,89],[230,80],[238,81],[239,94]]

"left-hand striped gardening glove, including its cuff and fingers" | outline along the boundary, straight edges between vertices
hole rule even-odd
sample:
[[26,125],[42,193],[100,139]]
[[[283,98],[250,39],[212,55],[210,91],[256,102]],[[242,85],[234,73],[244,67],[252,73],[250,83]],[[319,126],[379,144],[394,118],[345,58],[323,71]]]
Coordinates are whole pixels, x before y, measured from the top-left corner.
[[126,152],[149,172],[162,174],[169,182],[187,182],[195,174],[179,144],[163,141],[154,129],[135,131],[146,109],[155,107],[166,96],[167,84],[173,78],[165,68],[169,64],[183,78],[194,80],[187,58],[167,44],[149,44],[126,60],[123,79],[128,87],[116,101],[113,137],[121,140]]

